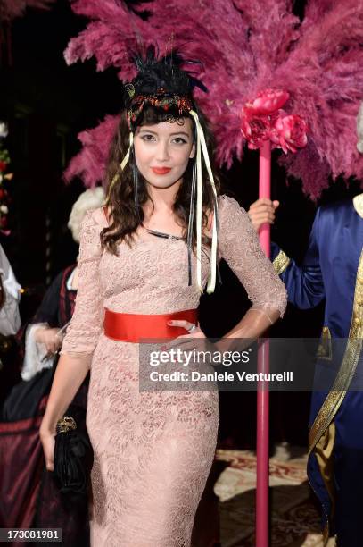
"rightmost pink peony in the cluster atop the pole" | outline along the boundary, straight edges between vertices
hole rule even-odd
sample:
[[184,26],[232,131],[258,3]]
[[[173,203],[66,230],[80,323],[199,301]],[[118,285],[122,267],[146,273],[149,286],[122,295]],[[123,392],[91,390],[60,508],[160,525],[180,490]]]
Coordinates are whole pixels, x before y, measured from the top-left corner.
[[279,116],[271,132],[271,140],[277,147],[281,147],[285,154],[288,150],[297,152],[297,148],[306,147],[308,143],[307,130],[307,123],[298,114]]

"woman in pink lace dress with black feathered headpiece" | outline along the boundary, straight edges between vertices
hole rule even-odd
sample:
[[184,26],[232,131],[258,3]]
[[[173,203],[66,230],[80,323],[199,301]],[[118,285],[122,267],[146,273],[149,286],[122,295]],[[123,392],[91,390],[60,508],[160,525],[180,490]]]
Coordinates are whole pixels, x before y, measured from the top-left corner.
[[[252,308],[227,337],[260,336],[282,316],[286,303],[284,285],[261,251],[247,214],[226,196],[214,204],[206,173],[197,279],[197,253],[188,254],[186,243],[200,133],[195,139],[193,114],[186,103],[180,105],[182,93],[175,95],[177,77],[186,79],[175,57],[166,75],[165,61],[148,63],[144,73],[150,75],[152,64],[156,87],[153,93],[147,86],[141,92],[140,80],[133,80],[130,105],[121,114],[111,150],[109,207],[89,212],[82,226],[75,313],[41,428],[47,467],[52,469],[56,422],[90,369],[87,429],[95,452],[91,543],[96,547],[191,543],[194,514],[216,447],[218,394],[139,391],[139,344],[130,332],[138,329],[140,338],[151,337],[153,331],[140,324],[150,324],[152,318],[156,337],[164,325],[169,338],[187,332],[190,338],[204,337],[191,317],[201,295],[198,284],[204,286],[210,272],[208,241],[217,210],[218,258],[227,260],[252,300]],[[144,100],[147,92],[152,100],[143,110],[138,97]],[[210,148],[209,130],[201,123]],[[122,162],[120,170],[128,143],[129,162]],[[216,187],[218,192],[217,182]],[[193,238],[195,248],[195,233]]]

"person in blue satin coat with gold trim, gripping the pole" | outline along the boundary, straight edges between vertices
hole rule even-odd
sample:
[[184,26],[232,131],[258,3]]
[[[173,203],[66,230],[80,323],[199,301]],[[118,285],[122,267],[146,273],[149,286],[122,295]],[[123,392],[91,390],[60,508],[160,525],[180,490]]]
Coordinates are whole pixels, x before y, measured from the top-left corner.
[[[358,134],[363,152],[362,106]],[[249,215],[257,231],[262,223],[274,222],[278,205],[268,199],[252,204]],[[336,535],[339,547],[362,542],[362,248],[363,194],[318,208],[301,265],[271,244],[273,265],[289,301],[309,309],[326,300],[317,371],[324,374],[327,364],[332,383],[312,394],[308,475],[321,503],[326,540]]]

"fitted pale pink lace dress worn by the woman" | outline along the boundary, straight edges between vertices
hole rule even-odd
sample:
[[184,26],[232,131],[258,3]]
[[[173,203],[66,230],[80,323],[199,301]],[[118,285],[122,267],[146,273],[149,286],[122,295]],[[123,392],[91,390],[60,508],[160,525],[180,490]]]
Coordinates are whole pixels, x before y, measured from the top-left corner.
[[[91,543],[95,547],[188,547],[194,514],[216,447],[218,393],[140,392],[138,345],[103,334],[103,308],[167,314],[198,307],[188,286],[182,240],[144,231],[119,256],[103,251],[102,209],[82,225],[78,295],[62,345],[70,361],[91,367],[87,428],[95,451]],[[253,306],[285,311],[285,286],[260,249],[248,215],[219,198],[219,253],[247,290]],[[202,253],[202,279],[209,259]],[[193,262],[195,273],[195,257]]]

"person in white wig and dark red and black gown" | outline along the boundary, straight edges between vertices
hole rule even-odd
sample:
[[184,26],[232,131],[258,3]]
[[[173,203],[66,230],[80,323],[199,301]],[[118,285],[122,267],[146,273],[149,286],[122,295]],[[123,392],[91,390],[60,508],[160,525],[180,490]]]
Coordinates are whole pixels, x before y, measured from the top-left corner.
[[[73,205],[68,226],[79,242],[87,210],[104,203],[102,188],[87,189]],[[73,314],[78,265],[59,273],[36,315],[24,328],[22,382],[12,388],[0,417],[0,524],[4,527],[60,527],[62,544],[89,544],[87,503],[64,507],[60,492],[45,469],[39,426],[57,366],[63,332]],[[68,413],[85,423],[88,379],[71,401]],[[86,506],[86,507],[85,507]]]

